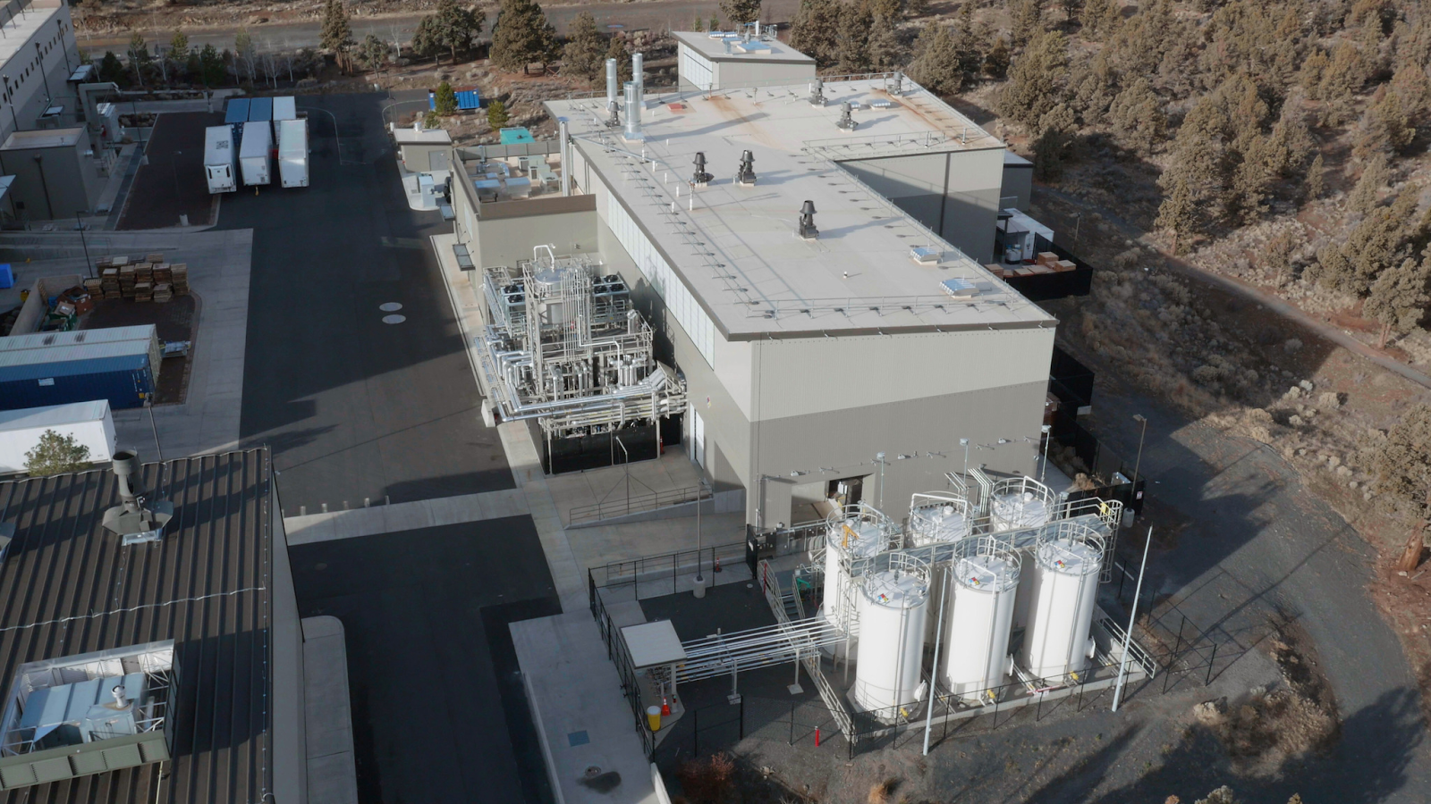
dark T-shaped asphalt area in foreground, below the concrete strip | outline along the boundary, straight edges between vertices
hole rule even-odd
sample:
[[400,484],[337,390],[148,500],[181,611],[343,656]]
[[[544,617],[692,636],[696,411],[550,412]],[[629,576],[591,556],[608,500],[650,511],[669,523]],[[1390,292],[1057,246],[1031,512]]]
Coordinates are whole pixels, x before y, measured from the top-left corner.
[[343,621],[359,800],[552,801],[508,622],[561,612],[529,516],[289,549]]

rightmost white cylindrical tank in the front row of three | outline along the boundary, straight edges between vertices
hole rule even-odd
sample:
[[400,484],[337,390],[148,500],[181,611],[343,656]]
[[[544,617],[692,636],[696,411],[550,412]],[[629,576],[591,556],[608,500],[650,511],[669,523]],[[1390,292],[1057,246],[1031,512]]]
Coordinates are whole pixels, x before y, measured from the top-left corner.
[[1082,672],[1092,654],[1103,538],[1085,526],[1065,528],[1042,538],[1033,559],[1037,581],[1019,658],[1032,675],[1062,680]]

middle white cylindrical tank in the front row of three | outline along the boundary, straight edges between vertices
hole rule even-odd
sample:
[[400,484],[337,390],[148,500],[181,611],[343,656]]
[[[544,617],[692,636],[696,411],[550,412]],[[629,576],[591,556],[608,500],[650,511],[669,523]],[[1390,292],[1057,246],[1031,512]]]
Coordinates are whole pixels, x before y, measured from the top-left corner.
[[[1019,594],[1019,559],[986,552],[954,561],[953,605],[946,615],[944,684],[964,698],[993,700],[1009,672],[1009,632]],[[995,692],[997,695],[997,691]]]

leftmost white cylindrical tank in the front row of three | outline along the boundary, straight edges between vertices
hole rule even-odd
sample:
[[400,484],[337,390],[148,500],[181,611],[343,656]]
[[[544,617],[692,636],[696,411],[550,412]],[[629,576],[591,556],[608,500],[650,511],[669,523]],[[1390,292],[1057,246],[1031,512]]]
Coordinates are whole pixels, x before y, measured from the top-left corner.
[[856,648],[854,702],[883,720],[919,694],[924,655],[929,584],[914,572],[890,569],[860,587],[860,644]]

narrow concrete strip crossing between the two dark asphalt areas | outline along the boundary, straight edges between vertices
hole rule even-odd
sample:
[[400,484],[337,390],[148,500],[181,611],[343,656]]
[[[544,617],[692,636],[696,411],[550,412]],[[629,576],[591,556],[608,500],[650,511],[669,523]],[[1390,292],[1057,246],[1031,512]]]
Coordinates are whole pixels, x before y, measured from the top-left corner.
[[288,544],[306,545],[522,514],[528,514],[527,498],[508,489],[285,516],[283,529]]

